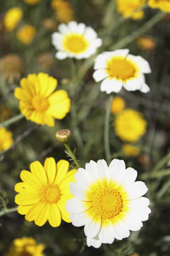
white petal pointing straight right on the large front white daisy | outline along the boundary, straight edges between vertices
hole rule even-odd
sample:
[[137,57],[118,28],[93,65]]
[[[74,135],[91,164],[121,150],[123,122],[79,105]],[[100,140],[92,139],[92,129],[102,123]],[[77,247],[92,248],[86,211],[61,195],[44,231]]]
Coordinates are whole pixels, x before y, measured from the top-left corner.
[[145,197],[123,201],[123,205],[133,209],[144,209],[148,207],[149,204],[150,204],[149,199]]

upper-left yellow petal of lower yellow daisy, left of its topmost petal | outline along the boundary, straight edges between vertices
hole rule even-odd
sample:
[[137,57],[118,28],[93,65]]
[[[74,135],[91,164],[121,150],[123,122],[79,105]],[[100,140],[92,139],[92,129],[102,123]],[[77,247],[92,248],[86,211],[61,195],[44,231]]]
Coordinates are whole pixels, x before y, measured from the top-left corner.
[[33,163],[30,164],[30,170],[32,172],[32,174],[37,177],[38,180],[40,180],[42,185],[47,184],[48,180],[47,180],[47,175],[45,173],[44,167],[42,166],[42,164],[38,161],[35,161]]

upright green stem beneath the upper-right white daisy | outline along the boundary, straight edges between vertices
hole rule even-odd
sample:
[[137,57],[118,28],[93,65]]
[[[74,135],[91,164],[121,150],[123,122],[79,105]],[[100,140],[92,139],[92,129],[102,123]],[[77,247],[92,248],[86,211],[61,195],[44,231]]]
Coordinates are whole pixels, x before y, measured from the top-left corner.
[[111,113],[111,104],[113,101],[113,95],[110,96],[108,107],[105,114],[105,129],[104,129],[104,147],[105,147],[105,156],[108,164],[111,163],[111,151],[109,143],[109,134],[110,134],[110,113]]

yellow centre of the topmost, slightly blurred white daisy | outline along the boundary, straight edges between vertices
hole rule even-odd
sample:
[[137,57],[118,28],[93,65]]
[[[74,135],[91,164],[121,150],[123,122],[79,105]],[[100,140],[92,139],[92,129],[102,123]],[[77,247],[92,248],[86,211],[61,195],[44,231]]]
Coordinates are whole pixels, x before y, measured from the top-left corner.
[[66,50],[77,54],[85,52],[89,45],[85,37],[78,34],[66,35],[63,44]]

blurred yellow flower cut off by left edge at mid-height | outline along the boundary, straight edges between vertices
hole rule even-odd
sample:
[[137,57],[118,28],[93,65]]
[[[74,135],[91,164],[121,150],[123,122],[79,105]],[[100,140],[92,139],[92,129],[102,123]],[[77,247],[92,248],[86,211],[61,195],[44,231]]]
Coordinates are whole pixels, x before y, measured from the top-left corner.
[[12,133],[7,131],[5,127],[0,128],[0,152],[8,149],[13,144]]

